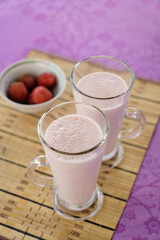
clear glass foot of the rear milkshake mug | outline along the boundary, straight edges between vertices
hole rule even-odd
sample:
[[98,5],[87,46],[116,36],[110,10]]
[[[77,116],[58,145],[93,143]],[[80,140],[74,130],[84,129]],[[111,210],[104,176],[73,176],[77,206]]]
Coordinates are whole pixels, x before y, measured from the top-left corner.
[[114,150],[113,152],[111,153],[112,155],[111,158],[109,158],[110,154],[107,156],[103,156],[103,161],[100,169],[101,172],[110,171],[112,168],[116,167],[122,161],[124,155],[124,148],[122,144],[118,143],[116,151]]

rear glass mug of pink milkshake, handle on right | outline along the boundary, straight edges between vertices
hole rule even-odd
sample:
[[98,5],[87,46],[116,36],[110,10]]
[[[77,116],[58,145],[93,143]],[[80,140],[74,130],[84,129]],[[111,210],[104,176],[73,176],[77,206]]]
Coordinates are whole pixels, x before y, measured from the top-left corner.
[[[118,75],[120,80],[125,81],[126,89],[122,91],[121,94],[115,96],[101,97],[99,93],[97,94],[99,87],[98,76],[100,76],[101,73],[110,73],[111,76],[115,76],[115,74],[116,76]],[[88,78],[91,74],[96,77],[96,85],[93,85]],[[102,55],[86,58],[78,62],[71,71],[70,82],[74,99],[97,106],[107,116],[110,123],[110,134],[104,149],[101,171],[110,170],[122,161],[124,153],[123,146],[121,145],[122,139],[136,138],[143,132],[146,122],[143,112],[135,107],[127,107],[134,80],[134,73],[130,66],[120,59],[110,56]],[[93,95],[86,93],[86,91],[88,91],[87,88],[91,86],[90,84],[95,87]],[[122,82],[119,82],[119,85],[121,87]],[[105,86],[103,90],[105,91]],[[110,91],[112,91],[112,89],[110,89]],[[105,92],[103,92],[103,94],[104,93]],[[92,114],[90,117],[95,116]],[[121,130],[124,117],[135,118],[138,121],[137,125],[131,129]]]

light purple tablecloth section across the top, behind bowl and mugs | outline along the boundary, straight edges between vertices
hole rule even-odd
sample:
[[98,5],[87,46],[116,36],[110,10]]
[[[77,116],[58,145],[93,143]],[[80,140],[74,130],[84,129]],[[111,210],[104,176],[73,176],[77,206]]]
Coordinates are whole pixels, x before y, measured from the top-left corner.
[[81,60],[105,54],[160,81],[159,0],[0,0],[0,71],[39,49]]

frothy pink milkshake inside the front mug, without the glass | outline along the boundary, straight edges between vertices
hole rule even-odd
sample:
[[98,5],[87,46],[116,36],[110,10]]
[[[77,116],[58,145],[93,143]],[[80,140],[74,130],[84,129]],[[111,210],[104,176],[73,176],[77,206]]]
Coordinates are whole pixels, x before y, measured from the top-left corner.
[[53,121],[44,138],[56,149],[44,145],[63,206],[74,209],[88,201],[92,203],[104,147],[96,147],[103,138],[100,126],[86,116],[70,114]]

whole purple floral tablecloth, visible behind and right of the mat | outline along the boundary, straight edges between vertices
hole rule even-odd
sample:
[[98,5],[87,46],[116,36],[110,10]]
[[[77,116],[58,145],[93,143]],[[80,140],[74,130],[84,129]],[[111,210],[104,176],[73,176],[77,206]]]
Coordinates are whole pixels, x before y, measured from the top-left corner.
[[[110,55],[160,82],[159,0],[0,0],[0,71],[31,49],[73,60]],[[114,240],[160,239],[160,122]]]

